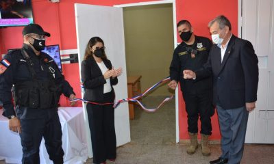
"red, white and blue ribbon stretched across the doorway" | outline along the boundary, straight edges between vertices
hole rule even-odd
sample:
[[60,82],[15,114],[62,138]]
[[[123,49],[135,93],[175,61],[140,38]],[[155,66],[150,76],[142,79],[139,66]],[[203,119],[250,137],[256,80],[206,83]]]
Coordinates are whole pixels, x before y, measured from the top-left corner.
[[83,102],[87,102],[90,104],[94,104],[94,105],[113,105],[114,108],[118,107],[121,103],[123,102],[137,102],[138,105],[140,105],[140,107],[142,107],[142,109],[144,109],[147,112],[155,112],[157,111],[160,107],[162,107],[162,105],[164,105],[165,102],[168,102],[169,100],[171,100],[173,98],[173,95],[165,98],[164,100],[162,100],[162,102],[160,103],[160,105],[158,105],[158,107],[155,107],[153,109],[148,109],[147,107],[145,107],[144,105],[142,105],[142,103],[138,100],[140,98],[142,98],[142,96],[145,96],[146,94],[148,94],[149,92],[151,92],[151,90],[154,90],[155,87],[158,87],[159,85],[161,85],[162,83],[166,83],[167,81],[169,81],[171,78],[170,77],[166,77],[165,79],[162,79],[161,81],[159,81],[158,83],[155,83],[154,85],[152,85],[152,87],[149,87],[147,90],[145,90],[145,92],[143,92],[140,95],[134,96],[132,98],[123,98],[121,100],[118,100],[117,102],[113,103],[113,102],[106,102],[106,103],[99,103],[99,102],[92,102],[92,101],[88,101],[88,100],[83,100],[82,98],[75,98],[74,100],[70,100],[71,102],[75,102],[78,100],[81,100]]

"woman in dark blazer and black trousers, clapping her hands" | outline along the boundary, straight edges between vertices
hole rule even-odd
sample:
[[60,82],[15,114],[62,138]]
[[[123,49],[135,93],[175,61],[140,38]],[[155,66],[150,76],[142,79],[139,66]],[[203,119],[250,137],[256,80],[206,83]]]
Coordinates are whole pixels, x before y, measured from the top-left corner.
[[[114,69],[105,55],[103,40],[93,37],[89,40],[81,64],[82,82],[85,88],[84,100],[105,103],[114,102],[112,85],[118,83],[121,68]],[[92,141],[93,163],[105,163],[116,159],[116,135],[113,105],[87,103],[88,122]]]

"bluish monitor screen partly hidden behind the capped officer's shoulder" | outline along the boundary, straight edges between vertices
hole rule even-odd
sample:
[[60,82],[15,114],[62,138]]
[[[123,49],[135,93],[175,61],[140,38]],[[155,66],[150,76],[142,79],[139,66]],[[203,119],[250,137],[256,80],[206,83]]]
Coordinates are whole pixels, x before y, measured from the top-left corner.
[[55,63],[57,64],[57,66],[59,68],[59,70],[62,72],[62,63],[61,63],[59,45],[46,46],[45,50],[43,50],[42,52],[49,54],[54,59]]

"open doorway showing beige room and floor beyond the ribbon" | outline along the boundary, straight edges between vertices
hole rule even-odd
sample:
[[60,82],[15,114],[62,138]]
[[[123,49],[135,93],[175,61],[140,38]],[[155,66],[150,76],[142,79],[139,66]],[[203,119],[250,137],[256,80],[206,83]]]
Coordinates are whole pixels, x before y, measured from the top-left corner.
[[[123,8],[127,77],[140,77],[141,92],[169,76],[174,50],[173,3]],[[157,107],[166,96],[175,94],[167,85],[149,93],[142,102]],[[131,139],[137,143],[175,143],[175,98],[156,113],[134,107],[130,120]],[[160,124],[159,124],[160,123]]]

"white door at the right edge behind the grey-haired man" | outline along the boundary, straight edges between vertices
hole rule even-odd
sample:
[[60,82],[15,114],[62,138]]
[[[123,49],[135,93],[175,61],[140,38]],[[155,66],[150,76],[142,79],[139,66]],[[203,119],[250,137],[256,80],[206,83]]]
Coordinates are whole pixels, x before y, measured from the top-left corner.
[[274,143],[274,1],[238,0],[239,26],[259,59],[259,86],[256,109],[249,113],[247,143]]

